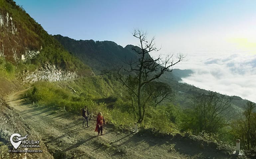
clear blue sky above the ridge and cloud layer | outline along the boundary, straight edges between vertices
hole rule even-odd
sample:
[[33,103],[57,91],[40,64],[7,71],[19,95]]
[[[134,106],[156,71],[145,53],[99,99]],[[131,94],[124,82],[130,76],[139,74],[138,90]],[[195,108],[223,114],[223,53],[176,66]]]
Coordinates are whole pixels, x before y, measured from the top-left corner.
[[[156,42],[163,45],[166,50],[169,49],[167,45],[173,46],[171,49],[176,50],[175,40],[179,43],[177,49],[188,50],[192,49],[190,39],[196,42],[204,41],[201,49],[215,42],[221,46],[220,39],[225,43],[228,38],[252,39],[252,31],[253,35],[256,34],[255,27],[252,26],[256,25],[254,0],[16,2],[23,6],[49,34],[61,34],[77,40],[112,40],[122,46],[136,44],[131,32],[138,28],[147,31],[149,36],[156,36]],[[244,32],[240,33],[242,31]],[[184,38],[187,41],[182,42],[181,39]]]

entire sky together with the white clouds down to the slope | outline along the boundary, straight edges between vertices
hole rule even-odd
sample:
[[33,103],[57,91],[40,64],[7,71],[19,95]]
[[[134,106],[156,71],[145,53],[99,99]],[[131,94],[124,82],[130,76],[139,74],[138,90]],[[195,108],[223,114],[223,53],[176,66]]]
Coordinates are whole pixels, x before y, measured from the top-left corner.
[[183,82],[256,102],[255,0],[16,0],[49,34],[138,44],[156,37],[163,56],[187,54]]

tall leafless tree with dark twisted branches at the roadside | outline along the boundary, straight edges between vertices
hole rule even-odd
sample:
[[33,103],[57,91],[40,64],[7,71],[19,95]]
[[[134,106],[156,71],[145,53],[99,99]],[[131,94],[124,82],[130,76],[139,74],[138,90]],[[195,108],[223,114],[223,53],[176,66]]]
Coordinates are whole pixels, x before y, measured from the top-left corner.
[[[146,86],[149,86],[151,82],[161,77],[165,72],[171,72],[172,66],[181,62],[184,59],[184,55],[179,54],[176,61],[173,60],[173,55],[167,56],[164,60],[160,56],[153,59],[149,53],[159,51],[155,45],[155,38],[148,41],[147,33],[140,30],[135,30],[133,37],[140,42],[139,47],[132,47],[138,58],[125,61],[128,67],[122,67],[118,70],[118,79],[127,87],[134,104],[134,110],[138,110],[138,123],[141,123],[144,119],[149,99],[154,95],[153,93],[145,93]],[[125,76],[123,72],[130,75]],[[168,91],[163,92],[170,93]],[[168,97],[165,94],[161,94],[161,96],[163,97],[162,100],[160,98],[160,101],[155,103],[156,105]]]

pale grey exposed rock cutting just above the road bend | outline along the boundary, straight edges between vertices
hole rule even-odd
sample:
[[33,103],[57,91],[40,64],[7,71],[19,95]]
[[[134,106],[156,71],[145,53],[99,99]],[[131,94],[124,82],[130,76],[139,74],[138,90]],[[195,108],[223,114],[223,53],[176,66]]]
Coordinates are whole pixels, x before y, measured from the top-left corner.
[[40,80],[49,82],[67,81],[79,78],[80,76],[76,72],[62,70],[55,65],[47,63],[34,72],[23,71],[20,77],[24,83],[34,83]]

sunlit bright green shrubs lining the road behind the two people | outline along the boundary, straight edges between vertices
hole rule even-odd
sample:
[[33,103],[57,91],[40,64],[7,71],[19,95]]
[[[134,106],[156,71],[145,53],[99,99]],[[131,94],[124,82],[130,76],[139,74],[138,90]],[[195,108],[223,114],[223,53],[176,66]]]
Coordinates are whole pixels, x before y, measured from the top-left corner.
[[106,104],[95,103],[93,99],[72,94],[69,90],[58,87],[55,83],[40,81],[26,92],[29,102],[36,102],[39,106],[64,108],[68,112],[78,113],[81,108],[87,106],[90,112],[97,115],[102,112],[106,119],[109,111]]

